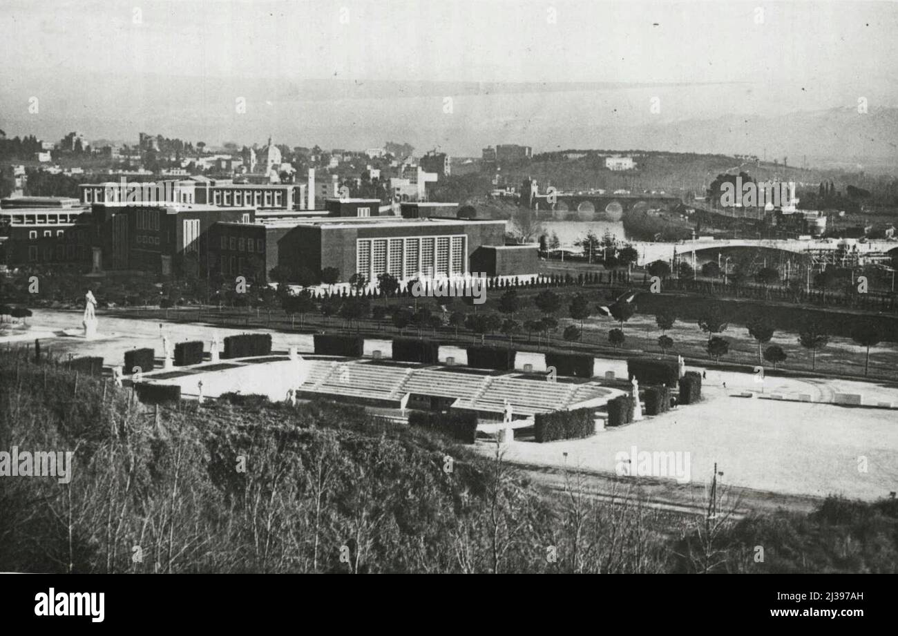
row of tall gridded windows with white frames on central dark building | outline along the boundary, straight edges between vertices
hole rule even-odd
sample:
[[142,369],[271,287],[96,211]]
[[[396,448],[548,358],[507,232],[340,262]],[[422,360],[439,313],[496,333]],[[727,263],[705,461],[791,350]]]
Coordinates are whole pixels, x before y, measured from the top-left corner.
[[384,272],[396,278],[418,274],[463,274],[467,255],[465,235],[414,238],[357,239],[356,269],[369,280]]

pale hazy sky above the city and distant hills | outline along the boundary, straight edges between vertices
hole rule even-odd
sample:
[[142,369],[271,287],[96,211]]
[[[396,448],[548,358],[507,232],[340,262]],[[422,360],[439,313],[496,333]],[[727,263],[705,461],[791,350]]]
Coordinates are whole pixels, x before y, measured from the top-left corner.
[[[545,143],[540,127],[564,137],[570,120],[898,105],[892,2],[0,0],[0,28],[0,123],[13,134],[129,139],[153,126],[365,147],[405,133],[474,153]],[[550,84],[506,85],[523,82]],[[27,113],[31,96],[40,113]],[[234,113],[239,97],[248,108]]]

